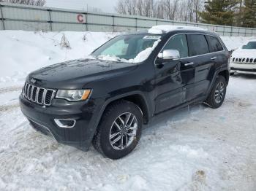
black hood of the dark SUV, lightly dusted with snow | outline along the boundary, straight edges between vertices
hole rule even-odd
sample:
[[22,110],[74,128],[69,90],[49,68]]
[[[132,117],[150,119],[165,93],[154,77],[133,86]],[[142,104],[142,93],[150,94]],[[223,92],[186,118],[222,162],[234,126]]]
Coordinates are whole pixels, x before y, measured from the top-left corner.
[[39,87],[78,89],[94,80],[115,77],[136,67],[135,63],[97,59],[67,61],[34,71],[27,81]]

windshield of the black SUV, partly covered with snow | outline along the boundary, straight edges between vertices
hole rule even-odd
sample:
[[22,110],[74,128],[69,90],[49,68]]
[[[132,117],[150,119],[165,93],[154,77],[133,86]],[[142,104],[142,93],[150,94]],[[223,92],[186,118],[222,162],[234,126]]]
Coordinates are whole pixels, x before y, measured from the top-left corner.
[[148,58],[160,38],[160,35],[145,34],[116,36],[91,55],[101,60],[138,63]]

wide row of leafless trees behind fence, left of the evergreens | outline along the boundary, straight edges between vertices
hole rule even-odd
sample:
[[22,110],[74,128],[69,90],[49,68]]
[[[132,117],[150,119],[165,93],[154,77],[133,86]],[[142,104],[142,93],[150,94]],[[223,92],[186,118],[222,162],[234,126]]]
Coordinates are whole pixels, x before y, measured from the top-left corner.
[[116,12],[125,15],[198,22],[204,0],[118,0]]

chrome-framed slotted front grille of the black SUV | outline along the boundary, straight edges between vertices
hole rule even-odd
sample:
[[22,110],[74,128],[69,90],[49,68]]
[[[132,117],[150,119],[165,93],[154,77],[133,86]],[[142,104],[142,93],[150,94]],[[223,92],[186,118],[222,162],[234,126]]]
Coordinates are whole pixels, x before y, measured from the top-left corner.
[[23,96],[37,104],[50,106],[56,93],[55,90],[37,87],[26,82],[22,90]]

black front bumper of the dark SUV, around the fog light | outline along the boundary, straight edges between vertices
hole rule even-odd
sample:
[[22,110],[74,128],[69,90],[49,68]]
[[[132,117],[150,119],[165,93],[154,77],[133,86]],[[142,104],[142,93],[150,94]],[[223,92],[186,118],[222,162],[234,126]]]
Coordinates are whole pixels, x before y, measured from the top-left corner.
[[[20,109],[31,122],[31,125],[42,133],[48,131],[61,144],[67,144],[83,151],[91,145],[95,133],[97,113],[102,100],[69,102],[53,99],[50,106],[42,106],[28,101],[20,95]],[[75,120],[72,128],[59,127],[55,119]]]

